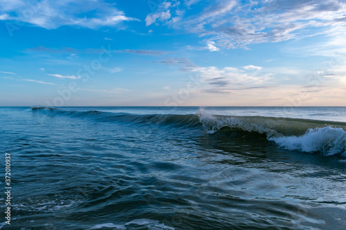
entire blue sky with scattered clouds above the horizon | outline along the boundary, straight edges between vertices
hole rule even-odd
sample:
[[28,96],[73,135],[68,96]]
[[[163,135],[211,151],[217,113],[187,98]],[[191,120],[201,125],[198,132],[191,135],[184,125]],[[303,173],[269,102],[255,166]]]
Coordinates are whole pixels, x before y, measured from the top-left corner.
[[346,106],[346,2],[0,0],[0,106]]

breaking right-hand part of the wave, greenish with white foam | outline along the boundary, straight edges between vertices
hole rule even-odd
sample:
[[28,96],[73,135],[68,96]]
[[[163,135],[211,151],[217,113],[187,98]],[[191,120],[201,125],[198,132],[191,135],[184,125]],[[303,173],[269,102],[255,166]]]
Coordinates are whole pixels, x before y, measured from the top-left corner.
[[242,131],[263,133],[267,140],[290,151],[346,157],[346,124],[313,119],[282,117],[234,117],[208,115],[199,111],[207,133]]

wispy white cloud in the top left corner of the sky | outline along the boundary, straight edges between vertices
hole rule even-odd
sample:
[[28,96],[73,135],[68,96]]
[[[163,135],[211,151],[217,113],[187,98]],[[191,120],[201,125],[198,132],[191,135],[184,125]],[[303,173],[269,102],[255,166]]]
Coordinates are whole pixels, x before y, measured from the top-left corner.
[[25,0],[0,0],[0,20],[16,20],[46,29],[60,26],[100,28],[116,26],[122,21],[139,21],[126,17],[113,4],[104,0],[44,0],[30,3]]

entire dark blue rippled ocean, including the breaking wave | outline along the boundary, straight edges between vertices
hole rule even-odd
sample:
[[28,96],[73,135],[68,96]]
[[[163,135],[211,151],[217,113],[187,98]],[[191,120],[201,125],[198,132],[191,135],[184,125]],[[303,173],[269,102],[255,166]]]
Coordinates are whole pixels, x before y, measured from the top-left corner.
[[346,229],[345,114],[1,107],[0,229]]

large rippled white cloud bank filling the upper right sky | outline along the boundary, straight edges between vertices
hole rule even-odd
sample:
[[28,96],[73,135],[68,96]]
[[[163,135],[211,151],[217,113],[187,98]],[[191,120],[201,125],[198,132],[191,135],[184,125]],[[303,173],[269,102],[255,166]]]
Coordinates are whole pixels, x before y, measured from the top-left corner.
[[[147,26],[163,23],[176,30],[197,33],[204,37],[210,51],[314,35],[329,36],[329,29],[346,26],[346,3],[340,0],[219,0],[210,1],[210,6],[197,14],[194,13],[197,11],[189,11],[195,2],[198,1],[187,1],[185,7],[178,8],[174,7],[174,1],[165,1],[167,7],[161,4],[155,14],[147,15]],[[163,15],[166,17],[161,19]]]

